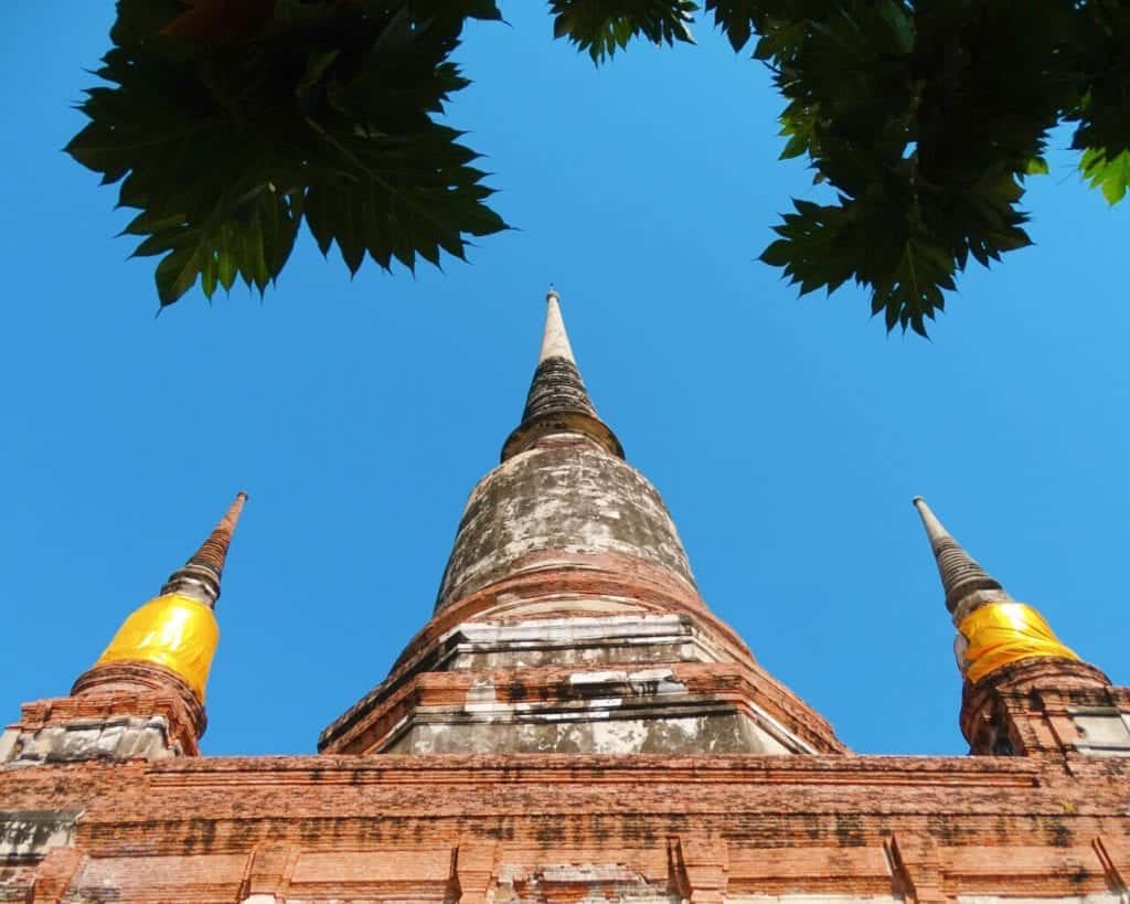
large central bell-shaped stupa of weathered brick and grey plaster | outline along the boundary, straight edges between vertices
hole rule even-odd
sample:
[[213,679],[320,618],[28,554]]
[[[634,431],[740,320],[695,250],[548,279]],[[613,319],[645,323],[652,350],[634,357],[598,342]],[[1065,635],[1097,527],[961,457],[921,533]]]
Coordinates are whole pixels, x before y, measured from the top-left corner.
[[319,749],[844,753],[703,602],[547,304],[521,423],[471,492],[432,620]]

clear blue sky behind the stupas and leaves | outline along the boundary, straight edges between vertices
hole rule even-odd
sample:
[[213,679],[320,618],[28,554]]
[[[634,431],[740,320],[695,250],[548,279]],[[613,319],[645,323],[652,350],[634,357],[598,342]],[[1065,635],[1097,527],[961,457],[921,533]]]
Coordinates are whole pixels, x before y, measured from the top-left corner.
[[[305,238],[264,302],[159,318],[115,192],[60,148],[110,0],[21,5],[0,46],[0,706],[63,695],[233,494],[209,754],[301,753],[427,620],[562,293],[582,373],[663,494],[707,602],[863,753],[964,753],[960,685],[910,499],[1068,644],[1125,660],[1130,207],[1070,157],[1036,246],[971,270],[933,341],[756,262],[790,195],[780,102],[710,28],[597,70],[540,3],[475,27],[451,110],[520,227],[471,264],[353,281]],[[1066,141],[1061,141],[1061,145]],[[336,255],[336,252],[334,252]]]

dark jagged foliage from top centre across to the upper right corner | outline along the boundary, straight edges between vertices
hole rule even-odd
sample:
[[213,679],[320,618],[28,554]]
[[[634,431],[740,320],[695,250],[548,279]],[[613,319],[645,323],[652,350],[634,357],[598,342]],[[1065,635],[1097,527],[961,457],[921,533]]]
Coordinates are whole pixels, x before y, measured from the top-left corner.
[[[594,59],[608,34],[654,40],[655,23],[690,12],[673,0],[666,12],[576,6],[615,14],[568,23]],[[1024,183],[1046,172],[1057,124],[1076,124],[1083,174],[1110,202],[1130,185],[1119,0],[705,0],[704,12],[772,69],[781,156],[807,157],[835,191],[833,203],[796,201],[762,260],[802,294],[866,286],[888,330],[924,336],[970,257],[988,266],[1031,244]]]

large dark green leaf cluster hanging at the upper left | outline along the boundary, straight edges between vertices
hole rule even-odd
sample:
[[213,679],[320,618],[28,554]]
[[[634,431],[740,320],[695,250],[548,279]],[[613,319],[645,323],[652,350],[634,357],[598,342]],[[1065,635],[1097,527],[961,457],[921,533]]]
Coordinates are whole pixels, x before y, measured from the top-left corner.
[[162,305],[278,277],[306,219],[350,271],[409,269],[505,228],[460,133],[449,61],[493,0],[120,0],[67,150],[120,182]]

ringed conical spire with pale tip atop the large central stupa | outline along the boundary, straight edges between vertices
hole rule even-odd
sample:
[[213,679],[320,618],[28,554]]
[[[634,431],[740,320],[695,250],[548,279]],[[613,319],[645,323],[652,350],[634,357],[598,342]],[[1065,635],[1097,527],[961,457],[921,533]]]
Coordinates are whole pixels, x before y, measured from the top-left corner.
[[530,449],[549,433],[583,434],[614,455],[624,458],[619,440],[600,419],[589,399],[565,332],[559,302],[557,290],[550,287],[546,295],[546,328],[538,366],[525,398],[522,423],[503,445],[503,461]]

